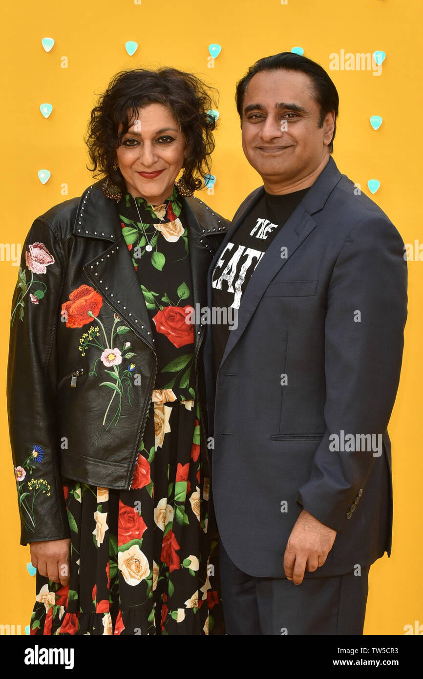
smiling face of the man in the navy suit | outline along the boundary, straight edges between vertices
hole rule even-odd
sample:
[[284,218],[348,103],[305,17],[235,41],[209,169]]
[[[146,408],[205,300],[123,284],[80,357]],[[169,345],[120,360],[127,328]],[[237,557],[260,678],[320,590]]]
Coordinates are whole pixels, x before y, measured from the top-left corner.
[[312,80],[297,71],[261,71],[251,78],[242,107],[242,149],[266,184],[305,179],[329,154],[334,113],[318,126]]

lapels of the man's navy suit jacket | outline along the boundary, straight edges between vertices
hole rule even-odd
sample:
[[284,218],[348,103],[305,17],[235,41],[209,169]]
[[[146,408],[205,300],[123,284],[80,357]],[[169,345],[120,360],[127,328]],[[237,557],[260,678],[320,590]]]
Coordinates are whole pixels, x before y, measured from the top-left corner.
[[[318,175],[318,178],[310,187],[306,196],[304,196],[297,208],[295,208],[293,214],[289,217],[278,235],[272,240],[262,261],[253,272],[242,295],[240,308],[238,309],[238,325],[236,329],[231,330],[229,333],[220,365],[222,365],[229,352],[234,348],[236,342],[238,342],[238,339],[242,336],[246,325],[249,323],[251,316],[255,312],[255,309],[271,280],[316,227],[316,221],[312,219],[311,215],[323,208],[331,191],[333,191],[335,185],[341,178],[342,175],[337,169],[335,161],[330,156],[329,162],[322,172],[320,172],[320,175]],[[228,231],[219,251],[217,251],[213,258],[213,262],[208,270],[208,305],[210,307],[212,306],[213,299],[211,274],[215,264],[225,248],[226,243],[231,240],[232,234],[234,234],[236,229],[240,226],[246,213],[253,207],[259,198],[263,196],[263,192],[264,187],[260,187],[251,194],[251,200],[246,202],[244,209],[242,209],[238,219],[236,219],[234,227]],[[281,248],[284,248],[283,256]]]

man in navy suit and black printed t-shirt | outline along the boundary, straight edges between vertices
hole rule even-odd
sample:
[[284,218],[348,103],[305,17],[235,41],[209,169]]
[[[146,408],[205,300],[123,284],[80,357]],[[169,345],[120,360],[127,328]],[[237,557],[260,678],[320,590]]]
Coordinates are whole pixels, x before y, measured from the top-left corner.
[[238,310],[205,353],[227,634],[363,634],[369,566],[391,546],[403,241],[331,157],[323,68],[263,58],[236,102],[263,186],[209,269],[208,305]]

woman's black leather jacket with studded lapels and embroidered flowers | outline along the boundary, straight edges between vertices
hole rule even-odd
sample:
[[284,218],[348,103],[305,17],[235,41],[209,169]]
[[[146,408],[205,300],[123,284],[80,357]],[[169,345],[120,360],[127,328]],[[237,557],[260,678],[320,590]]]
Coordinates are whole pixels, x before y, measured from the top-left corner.
[[[157,369],[151,323],[122,236],[117,204],[105,197],[101,184],[94,183],[81,198],[62,202],[35,219],[22,249],[7,366],[21,545],[69,537],[62,477],[130,489],[151,403]],[[229,221],[198,198],[181,202],[197,308],[206,306],[208,265]],[[64,304],[69,318],[77,318],[73,327],[66,322]],[[98,317],[94,323],[91,313]],[[114,325],[111,349],[123,350],[130,342],[132,357],[126,363],[135,366],[139,384],[126,382],[113,403],[119,405],[119,419],[111,422],[109,416],[105,424],[111,390],[100,385],[108,375],[104,365],[94,365],[94,352],[84,354],[80,348],[82,335],[99,321],[107,337]],[[204,325],[194,326],[196,396],[206,464],[200,360],[204,331]]]

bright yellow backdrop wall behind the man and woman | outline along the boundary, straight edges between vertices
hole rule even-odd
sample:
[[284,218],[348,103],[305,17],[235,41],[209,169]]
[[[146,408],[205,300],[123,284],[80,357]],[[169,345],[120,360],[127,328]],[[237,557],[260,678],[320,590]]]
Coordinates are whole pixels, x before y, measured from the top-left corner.
[[[225,217],[232,217],[242,199],[261,183],[242,153],[234,106],[236,80],[257,58],[292,48],[304,49],[305,56],[329,71],[340,97],[335,161],[367,195],[371,195],[367,181],[380,181],[373,200],[392,219],[403,240],[413,244],[403,371],[390,422],[392,556],[385,555],[371,568],[365,634],[404,634],[405,625],[423,624],[423,456],[418,429],[423,377],[423,263],[418,259],[420,242],[423,259],[422,191],[417,186],[422,158],[420,0],[21,0],[3,4],[2,14],[0,304],[5,364],[18,274],[14,248],[23,243],[35,217],[62,200],[80,196],[92,183],[82,137],[95,95],[114,73],[169,65],[192,71],[218,88],[221,125],[213,155],[215,193],[207,196],[203,191],[198,196]],[[50,52],[41,45],[44,37],[55,41]],[[132,56],[126,52],[127,41],[138,43]],[[221,45],[214,62],[208,52],[210,43]],[[375,51],[386,54],[382,69],[373,58],[356,57]],[[48,118],[41,115],[43,103],[53,107]],[[371,127],[372,115],[383,119],[378,130]],[[51,172],[44,185],[37,176],[39,170]],[[5,369],[6,365],[0,394],[4,443],[0,623],[21,625],[25,634],[35,599],[35,577],[26,569],[29,547],[19,545]]]

